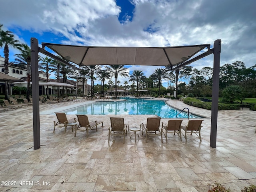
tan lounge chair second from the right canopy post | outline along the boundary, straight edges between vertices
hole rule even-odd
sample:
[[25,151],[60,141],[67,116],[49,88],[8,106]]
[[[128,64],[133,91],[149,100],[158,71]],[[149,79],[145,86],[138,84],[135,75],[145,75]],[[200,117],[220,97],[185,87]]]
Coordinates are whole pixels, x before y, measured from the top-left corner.
[[[180,140],[182,141],[181,123],[182,123],[182,119],[169,120],[166,126],[164,126],[164,123],[162,123],[162,133],[164,134],[166,141],[167,141],[167,133],[174,133],[174,135],[175,133],[177,133],[178,136],[180,137]],[[163,142],[163,137],[162,137],[162,142]]]

